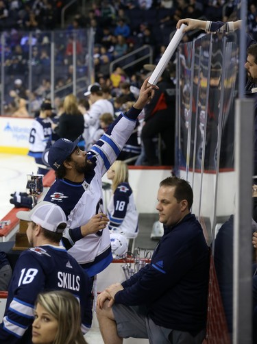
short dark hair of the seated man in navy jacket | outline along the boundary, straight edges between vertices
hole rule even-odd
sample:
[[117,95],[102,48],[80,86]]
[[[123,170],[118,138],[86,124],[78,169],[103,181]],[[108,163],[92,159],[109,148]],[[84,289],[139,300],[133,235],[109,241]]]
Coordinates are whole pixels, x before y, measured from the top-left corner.
[[174,197],[178,202],[186,199],[188,203],[188,209],[191,208],[193,204],[193,190],[186,180],[178,177],[167,177],[160,182],[160,186],[175,186]]

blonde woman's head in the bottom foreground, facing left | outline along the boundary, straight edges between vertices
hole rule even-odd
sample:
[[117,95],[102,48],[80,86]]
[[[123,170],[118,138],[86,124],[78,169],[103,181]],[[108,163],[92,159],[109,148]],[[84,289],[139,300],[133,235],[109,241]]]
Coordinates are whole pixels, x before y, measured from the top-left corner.
[[38,294],[32,324],[34,344],[85,344],[79,301],[68,291]]

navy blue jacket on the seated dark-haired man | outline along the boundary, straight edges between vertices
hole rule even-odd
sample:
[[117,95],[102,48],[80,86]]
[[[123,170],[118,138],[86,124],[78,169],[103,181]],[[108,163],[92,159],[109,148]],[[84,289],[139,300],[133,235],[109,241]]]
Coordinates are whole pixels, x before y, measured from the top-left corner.
[[117,304],[145,304],[157,325],[197,334],[206,326],[209,249],[194,214],[165,228],[151,263],[122,283]]

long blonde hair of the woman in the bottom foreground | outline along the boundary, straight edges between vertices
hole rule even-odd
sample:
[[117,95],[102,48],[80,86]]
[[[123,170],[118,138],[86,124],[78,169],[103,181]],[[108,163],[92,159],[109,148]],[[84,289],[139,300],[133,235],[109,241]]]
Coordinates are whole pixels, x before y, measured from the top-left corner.
[[40,304],[58,321],[58,330],[53,344],[85,344],[81,330],[79,301],[69,291],[40,293],[36,305]]

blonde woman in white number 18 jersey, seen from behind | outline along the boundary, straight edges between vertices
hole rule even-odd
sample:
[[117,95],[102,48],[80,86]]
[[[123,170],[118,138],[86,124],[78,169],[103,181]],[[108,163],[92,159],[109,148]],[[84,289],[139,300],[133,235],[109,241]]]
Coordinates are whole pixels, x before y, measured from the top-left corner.
[[109,229],[111,232],[121,232],[126,238],[136,238],[138,212],[128,182],[127,164],[116,160],[108,169],[107,177],[112,180],[112,197],[108,205]]

